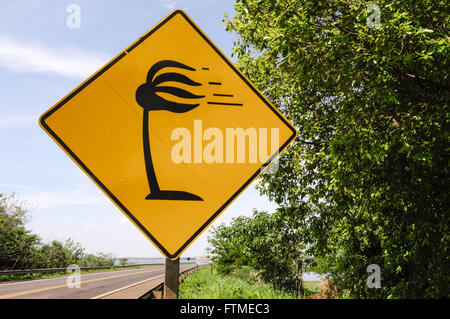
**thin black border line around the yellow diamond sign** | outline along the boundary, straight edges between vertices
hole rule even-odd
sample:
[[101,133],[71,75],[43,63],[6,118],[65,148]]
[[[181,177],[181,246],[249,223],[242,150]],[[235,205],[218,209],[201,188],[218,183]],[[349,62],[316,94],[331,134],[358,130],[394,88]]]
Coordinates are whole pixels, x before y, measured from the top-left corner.
[[[106,70],[108,70],[111,66],[117,63],[120,59],[122,59],[127,53],[130,53],[133,49],[135,49],[139,44],[141,44],[145,39],[147,39],[150,35],[152,35],[155,31],[157,31],[160,27],[162,27],[166,22],[172,19],[175,15],[181,14],[183,18],[194,28],[195,31],[216,51],[216,53],[230,66],[230,68],[236,72],[236,74],[255,92],[255,94],[292,130],[292,135],[289,139],[279,148],[275,154],[273,154],[266,163],[264,163],[245,183],[242,185],[234,194],[231,196],[174,254],[170,254],[157,240],[155,237],[150,234],[150,232],[131,214],[131,212],[122,204],[114,194],[89,170],[89,168],[78,158],[77,155],[55,134],[55,132],[45,123],[45,120],[56,112],[59,108],[61,108],[64,104],[66,104],[70,99],[72,99],[75,95],[77,95],[81,90],[91,84],[95,79],[97,79],[100,75],[102,75]],[[297,131],[295,128],[283,117],[281,116],[276,109],[258,92],[258,90],[236,69],[236,67],[223,55],[223,53],[206,37],[206,35],[192,22],[192,20],[181,10],[175,10],[169,16],[167,16],[164,20],[162,20],[157,26],[143,35],[138,41],[132,44],[129,48],[127,48],[124,52],[119,54],[114,60],[105,65],[101,70],[99,70],[96,74],[91,76],[85,83],[83,83],[80,87],[78,87],[75,91],[73,91],[69,96],[60,101],[50,110],[42,115],[40,118],[41,126],[50,134],[55,141],[80,165],[80,167],[95,181],[95,183],[103,189],[103,191],[119,206],[120,209],[124,213],[128,215],[128,217],[133,220],[133,222],[147,235],[147,237],[156,245],[158,248],[170,259],[175,259],[181,252],[227,207],[261,172],[261,169],[266,167],[272,162],[272,160],[295,138],[297,135]]]

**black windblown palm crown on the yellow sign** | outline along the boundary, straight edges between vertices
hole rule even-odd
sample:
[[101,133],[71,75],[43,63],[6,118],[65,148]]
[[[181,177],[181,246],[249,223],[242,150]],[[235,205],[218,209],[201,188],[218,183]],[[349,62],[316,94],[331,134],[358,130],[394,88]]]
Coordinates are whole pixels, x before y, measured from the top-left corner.
[[200,99],[205,97],[204,95],[195,95],[189,91],[177,87],[161,85],[164,82],[169,81],[179,82],[190,86],[201,85],[201,83],[195,82],[189,77],[180,73],[168,72],[155,77],[155,74],[159,70],[167,67],[195,71],[194,68],[191,68],[190,66],[177,61],[163,60],[155,63],[148,71],[146,83],[139,86],[136,90],[137,103],[147,111],[166,110],[175,113],[188,112],[199,106],[200,103],[186,104],[168,101],[156,94],[157,92],[169,93],[185,99]]

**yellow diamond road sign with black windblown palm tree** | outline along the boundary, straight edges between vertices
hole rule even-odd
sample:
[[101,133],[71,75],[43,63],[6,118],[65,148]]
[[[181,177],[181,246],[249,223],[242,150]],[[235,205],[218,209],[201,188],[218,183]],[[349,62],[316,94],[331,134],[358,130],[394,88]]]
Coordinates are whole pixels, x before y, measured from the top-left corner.
[[171,259],[296,136],[180,10],[45,112],[40,125]]

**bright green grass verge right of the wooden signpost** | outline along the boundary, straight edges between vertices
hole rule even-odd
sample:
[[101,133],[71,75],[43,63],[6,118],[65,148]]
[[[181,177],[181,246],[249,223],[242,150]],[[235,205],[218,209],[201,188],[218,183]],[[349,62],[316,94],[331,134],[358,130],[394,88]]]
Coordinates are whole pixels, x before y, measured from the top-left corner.
[[242,269],[232,275],[221,275],[215,267],[200,269],[183,281],[180,299],[293,299],[294,293],[274,290],[271,284]]

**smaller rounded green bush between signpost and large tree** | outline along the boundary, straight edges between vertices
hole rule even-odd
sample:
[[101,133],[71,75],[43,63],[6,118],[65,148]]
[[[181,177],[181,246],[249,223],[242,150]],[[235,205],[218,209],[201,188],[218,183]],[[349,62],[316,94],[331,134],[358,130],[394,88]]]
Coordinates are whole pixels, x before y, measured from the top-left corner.
[[254,211],[234,218],[229,226],[213,227],[210,253],[217,270],[228,274],[240,267],[259,272],[274,289],[294,289],[307,266],[301,210],[280,209],[273,214]]

